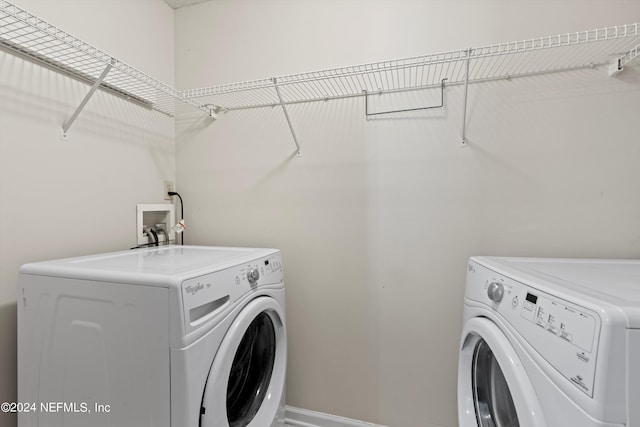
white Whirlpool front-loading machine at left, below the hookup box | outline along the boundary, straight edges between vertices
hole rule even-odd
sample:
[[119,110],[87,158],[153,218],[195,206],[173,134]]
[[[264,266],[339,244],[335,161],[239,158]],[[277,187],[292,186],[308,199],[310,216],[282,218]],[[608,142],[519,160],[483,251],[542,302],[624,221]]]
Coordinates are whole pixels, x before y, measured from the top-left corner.
[[166,246],[26,264],[20,427],[284,425],[280,252]]

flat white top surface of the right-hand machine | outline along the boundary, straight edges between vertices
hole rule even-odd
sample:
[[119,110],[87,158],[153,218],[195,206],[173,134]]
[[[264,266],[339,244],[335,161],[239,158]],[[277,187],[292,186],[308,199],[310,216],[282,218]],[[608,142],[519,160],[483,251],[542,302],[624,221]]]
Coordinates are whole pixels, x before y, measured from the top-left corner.
[[[640,260],[474,257],[476,262],[514,280],[548,286],[579,303],[590,300],[619,307],[627,327],[640,328]],[[601,304],[600,304],[601,305]]]

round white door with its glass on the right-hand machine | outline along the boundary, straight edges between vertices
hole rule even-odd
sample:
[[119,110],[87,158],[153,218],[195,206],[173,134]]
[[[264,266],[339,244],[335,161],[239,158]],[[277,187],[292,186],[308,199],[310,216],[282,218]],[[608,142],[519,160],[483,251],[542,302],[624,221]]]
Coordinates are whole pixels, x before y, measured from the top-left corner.
[[515,349],[487,318],[470,319],[462,333],[458,418],[460,427],[546,426]]

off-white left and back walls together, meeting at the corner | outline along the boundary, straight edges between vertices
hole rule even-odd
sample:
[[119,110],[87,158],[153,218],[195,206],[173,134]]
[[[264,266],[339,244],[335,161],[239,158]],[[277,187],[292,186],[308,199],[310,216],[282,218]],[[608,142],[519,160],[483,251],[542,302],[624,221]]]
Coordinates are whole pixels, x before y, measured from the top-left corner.
[[[160,0],[14,0],[174,81]],[[526,17],[523,18],[523,17]],[[192,88],[640,20],[614,1],[217,0],[175,13]],[[456,425],[466,258],[638,257],[640,67],[473,85],[444,110],[366,121],[361,99],[184,110],[175,170],[188,242],[283,250],[288,403],[393,427]],[[0,50],[0,401],[15,401],[19,266],[135,243],[136,203],[174,177],[174,123]],[[0,425],[15,418],[0,414]]]

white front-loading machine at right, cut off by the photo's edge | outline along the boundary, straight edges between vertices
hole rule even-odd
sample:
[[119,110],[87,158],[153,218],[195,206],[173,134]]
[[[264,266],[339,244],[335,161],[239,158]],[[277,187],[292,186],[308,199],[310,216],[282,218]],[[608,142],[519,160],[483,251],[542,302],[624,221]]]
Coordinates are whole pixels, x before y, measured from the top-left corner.
[[640,426],[640,261],[469,260],[460,427]]

